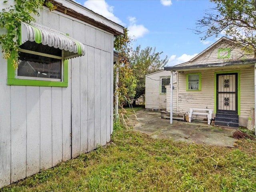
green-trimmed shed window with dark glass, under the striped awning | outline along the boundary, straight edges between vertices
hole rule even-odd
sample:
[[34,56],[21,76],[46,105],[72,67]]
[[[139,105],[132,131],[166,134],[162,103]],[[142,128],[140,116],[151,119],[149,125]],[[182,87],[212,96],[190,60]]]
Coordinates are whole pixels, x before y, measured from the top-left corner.
[[28,41],[18,53],[18,69],[8,62],[8,85],[68,86],[68,61],[62,50]]

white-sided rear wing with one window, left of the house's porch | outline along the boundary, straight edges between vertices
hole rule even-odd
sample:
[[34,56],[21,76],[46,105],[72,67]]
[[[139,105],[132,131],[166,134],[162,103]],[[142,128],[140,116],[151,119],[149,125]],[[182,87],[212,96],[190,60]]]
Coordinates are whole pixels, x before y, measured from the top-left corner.
[[[146,75],[145,108],[146,110],[170,110],[170,80],[173,82],[173,103],[176,103],[176,75],[171,78],[171,72],[159,70]],[[168,87],[169,86],[169,87]],[[168,103],[168,106],[166,104]],[[176,111],[175,106],[173,108]]]

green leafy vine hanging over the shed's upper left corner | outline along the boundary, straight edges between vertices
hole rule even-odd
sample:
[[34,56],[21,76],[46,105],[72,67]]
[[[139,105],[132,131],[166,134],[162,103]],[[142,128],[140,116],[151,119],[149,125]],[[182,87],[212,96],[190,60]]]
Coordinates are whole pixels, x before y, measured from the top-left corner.
[[3,3],[6,8],[0,10],[0,28],[6,32],[0,35],[0,45],[4,53],[3,58],[12,59],[13,67],[17,68],[21,22],[35,21],[32,14],[39,16],[44,0],[14,0],[14,5],[5,0]]

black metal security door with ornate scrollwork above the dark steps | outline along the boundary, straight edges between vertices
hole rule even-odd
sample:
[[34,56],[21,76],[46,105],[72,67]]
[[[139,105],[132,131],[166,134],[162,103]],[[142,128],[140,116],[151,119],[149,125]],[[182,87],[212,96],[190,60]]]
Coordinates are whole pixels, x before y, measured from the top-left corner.
[[217,74],[217,112],[237,114],[237,73]]

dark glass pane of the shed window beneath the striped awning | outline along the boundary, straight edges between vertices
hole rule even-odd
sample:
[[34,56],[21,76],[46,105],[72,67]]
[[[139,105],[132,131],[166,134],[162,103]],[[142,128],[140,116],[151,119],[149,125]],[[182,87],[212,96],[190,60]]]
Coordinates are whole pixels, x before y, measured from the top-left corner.
[[18,76],[61,79],[61,60],[19,52]]

